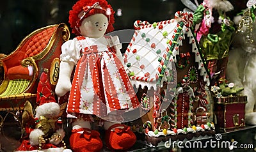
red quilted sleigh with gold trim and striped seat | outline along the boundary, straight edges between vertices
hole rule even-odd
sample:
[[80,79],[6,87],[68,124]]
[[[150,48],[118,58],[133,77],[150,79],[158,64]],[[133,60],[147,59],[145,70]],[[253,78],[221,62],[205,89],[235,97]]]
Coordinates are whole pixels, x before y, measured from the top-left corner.
[[[23,110],[27,100],[35,106],[36,88],[44,68],[49,70],[51,89],[54,90],[61,45],[69,36],[66,24],[42,27],[26,36],[11,54],[0,57],[0,112],[12,114],[19,120],[14,112]],[[0,129],[6,116],[2,118],[0,115]]]

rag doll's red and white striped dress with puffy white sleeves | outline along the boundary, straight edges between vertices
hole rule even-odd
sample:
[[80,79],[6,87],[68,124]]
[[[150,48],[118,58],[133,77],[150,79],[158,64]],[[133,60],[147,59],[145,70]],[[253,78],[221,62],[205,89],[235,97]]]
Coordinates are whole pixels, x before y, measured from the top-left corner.
[[122,45],[117,36],[78,36],[63,43],[61,61],[75,63],[76,70],[68,99],[69,116],[133,109],[140,103],[118,57]]

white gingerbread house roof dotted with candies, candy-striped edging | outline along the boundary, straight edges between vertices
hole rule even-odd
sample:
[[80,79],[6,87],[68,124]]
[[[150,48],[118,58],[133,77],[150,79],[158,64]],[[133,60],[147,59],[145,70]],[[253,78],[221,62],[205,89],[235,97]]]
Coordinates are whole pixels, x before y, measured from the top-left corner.
[[195,53],[195,62],[198,63],[200,75],[209,86],[206,62],[190,28],[192,21],[191,13],[178,11],[175,13],[175,19],[154,24],[140,20],[134,22],[136,30],[124,54],[125,67],[130,74],[132,85],[137,88],[153,87],[155,90],[157,87],[162,87],[163,82],[167,82],[164,73],[167,68],[175,68],[179,47],[187,36],[192,52]]

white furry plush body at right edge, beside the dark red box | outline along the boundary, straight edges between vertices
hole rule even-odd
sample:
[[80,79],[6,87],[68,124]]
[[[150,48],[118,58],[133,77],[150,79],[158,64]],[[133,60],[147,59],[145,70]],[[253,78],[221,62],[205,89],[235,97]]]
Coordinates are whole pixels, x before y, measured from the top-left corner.
[[256,125],[256,24],[253,23],[253,43],[246,43],[246,32],[237,33],[234,48],[230,50],[227,65],[227,80],[236,86],[244,87],[243,95],[248,98],[245,107],[245,121]]

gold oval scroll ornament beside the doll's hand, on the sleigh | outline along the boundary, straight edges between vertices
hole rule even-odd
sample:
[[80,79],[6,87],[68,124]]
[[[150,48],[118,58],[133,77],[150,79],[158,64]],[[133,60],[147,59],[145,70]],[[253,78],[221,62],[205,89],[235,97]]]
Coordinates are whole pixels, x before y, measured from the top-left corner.
[[50,69],[50,82],[53,86],[56,86],[59,78],[59,72],[60,72],[60,59],[54,58],[51,63],[51,69]]

